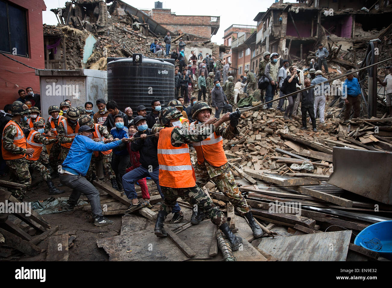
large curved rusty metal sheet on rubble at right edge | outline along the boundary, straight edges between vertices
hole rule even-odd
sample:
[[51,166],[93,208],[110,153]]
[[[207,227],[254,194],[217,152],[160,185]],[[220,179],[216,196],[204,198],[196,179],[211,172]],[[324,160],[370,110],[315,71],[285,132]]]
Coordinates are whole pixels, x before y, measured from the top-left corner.
[[334,147],[334,172],[328,183],[392,204],[392,153]]

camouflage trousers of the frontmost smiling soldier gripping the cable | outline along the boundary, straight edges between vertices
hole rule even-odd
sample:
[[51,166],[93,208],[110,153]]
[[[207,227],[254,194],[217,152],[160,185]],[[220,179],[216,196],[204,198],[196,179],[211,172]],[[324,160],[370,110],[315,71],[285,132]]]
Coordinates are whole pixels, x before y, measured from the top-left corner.
[[230,202],[233,204],[237,212],[239,212],[241,215],[245,215],[247,212],[252,210],[246,203],[246,200],[244,196],[242,196],[240,189],[238,189],[230,168],[220,175],[214,177],[210,177],[205,164],[200,165],[199,163],[196,163],[196,165],[194,165],[194,170],[196,176],[196,185],[203,187],[207,184],[208,181],[212,180],[220,192],[229,197]]

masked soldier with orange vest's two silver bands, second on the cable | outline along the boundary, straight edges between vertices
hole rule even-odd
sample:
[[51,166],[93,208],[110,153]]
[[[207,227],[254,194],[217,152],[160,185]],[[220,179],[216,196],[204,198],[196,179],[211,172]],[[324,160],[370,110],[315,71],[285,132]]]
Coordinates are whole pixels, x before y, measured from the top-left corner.
[[[232,250],[237,250],[242,243],[242,239],[232,234],[223,212],[196,185],[194,177],[192,177],[192,163],[187,145],[187,143],[198,143],[206,139],[211,133],[211,130],[214,131],[221,123],[229,120],[228,116],[223,116],[214,125],[212,123],[216,119],[212,118],[205,123],[206,125],[201,125],[196,130],[196,133],[192,134],[188,132],[188,129],[173,126],[178,123],[180,116],[181,113],[174,107],[166,107],[160,113],[159,120],[165,125],[165,128],[159,132],[158,140],[159,181],[165,199],[158,212],[154,233],[157,237],[167,236],[163,228],[163,221],[167,214],[171,212],[177,198],[182,197],[192,205],[197,205],[199,210],[204,211],[212,223],[216,224],[226,235],[227,239],[229,239]],[[173,158],[176,161],[173,161]],[[183,165],[180,165],[180,163]],[[180,166],[173,167],[173,165]]]

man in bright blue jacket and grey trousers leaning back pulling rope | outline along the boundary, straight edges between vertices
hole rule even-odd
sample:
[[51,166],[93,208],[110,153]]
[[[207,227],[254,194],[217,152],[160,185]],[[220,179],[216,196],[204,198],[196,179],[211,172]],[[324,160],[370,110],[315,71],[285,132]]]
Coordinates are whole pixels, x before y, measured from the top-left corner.
[[[95,142],[91,138],[94,128],[83,125],[79,128],[79,135],[74,138],[71,149],[69,149],[67,158],[65,158],[61,171],[60,183],[73,188],[69,199],[67,200],[69,208],[73,208],[78,203],[81,194],[89,199],[91,205],[91,212],[93,212],[94,225],[103,226],[111,225],[114,222],[103,217],[101,202],[98,190],[87,181],[85,176],[89,170],[91,156],[94,151],[107,151],[114,147],[118,147],[121,143],[128,142],[129,139],[123,138],[112,143],[104,144],[102,142]],[[110,141],[105,139],[105,142]]]

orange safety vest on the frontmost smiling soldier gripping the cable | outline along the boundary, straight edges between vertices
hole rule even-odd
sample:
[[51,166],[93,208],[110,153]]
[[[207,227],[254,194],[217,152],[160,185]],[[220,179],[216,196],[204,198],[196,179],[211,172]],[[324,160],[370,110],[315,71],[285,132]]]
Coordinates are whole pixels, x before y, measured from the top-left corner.
[[[197,123],[198,121],[192,122],[189,128],[194,129],[194,125]],[[207,160],[208,163],[215,167],[220,167],[227,163],[225,150],[223,150],[223,138],[216,135],[216,132],[207,139],[192,144],[196,150],[197,161],[200,165],[204,163],[204,160]]]

